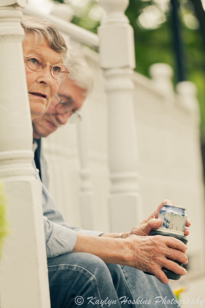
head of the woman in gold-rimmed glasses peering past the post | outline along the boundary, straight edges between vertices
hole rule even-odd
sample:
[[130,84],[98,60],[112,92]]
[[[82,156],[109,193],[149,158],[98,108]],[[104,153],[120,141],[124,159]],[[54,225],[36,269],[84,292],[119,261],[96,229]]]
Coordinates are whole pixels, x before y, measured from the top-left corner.
[[22,18],[22,42],[32,120],[44,113],[69,73],[63,65],[67,47],[57,28],[30,16]]

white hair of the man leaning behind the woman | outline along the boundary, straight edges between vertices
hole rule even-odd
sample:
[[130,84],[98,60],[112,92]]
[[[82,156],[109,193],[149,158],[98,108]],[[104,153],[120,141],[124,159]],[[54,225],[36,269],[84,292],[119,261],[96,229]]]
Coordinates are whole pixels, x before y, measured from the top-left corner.
[[93,73],[83,54],[73,47],[68,47],[65,66],[70,71],[67,78],[72,79],[78,87],[85,89],[87,96],[93,88]]

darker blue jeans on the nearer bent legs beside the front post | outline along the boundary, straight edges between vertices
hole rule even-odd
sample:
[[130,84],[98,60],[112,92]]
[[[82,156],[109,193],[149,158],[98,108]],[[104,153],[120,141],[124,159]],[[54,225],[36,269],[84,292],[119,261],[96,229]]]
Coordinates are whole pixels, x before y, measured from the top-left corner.
[[[66,253],[47,261],[51,308],[121,308],[120,297],[133,301],[117,264],[105,264],[89,253]],[[123,307],[136,305],[126,302]]]

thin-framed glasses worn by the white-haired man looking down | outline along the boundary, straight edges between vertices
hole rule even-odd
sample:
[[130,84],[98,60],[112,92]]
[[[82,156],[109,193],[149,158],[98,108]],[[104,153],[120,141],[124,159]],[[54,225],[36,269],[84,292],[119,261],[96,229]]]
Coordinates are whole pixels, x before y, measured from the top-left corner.
[[65,113],[70,113],[68,118],[68,123],[77,123],[81,120],[81,116],[76,111],[73,111],[72,105],[69,102],[63,102],[58,94],[55,94],[56,98],[58,99],[58,104],[55,106],[56,113],[63,115]]

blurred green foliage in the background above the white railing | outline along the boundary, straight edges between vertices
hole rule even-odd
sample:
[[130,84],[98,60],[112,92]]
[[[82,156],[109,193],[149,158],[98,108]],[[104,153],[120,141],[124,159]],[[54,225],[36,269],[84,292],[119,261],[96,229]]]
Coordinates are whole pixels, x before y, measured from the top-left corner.
[[[63,0],[54,0],[63,3]],[[179,18],[181,39],[183,46],[183,62],[186,80],[192,81],[198,88],[198,100],[201,111],[201,135],[205,140],[205,62],[204,46],[201,33],[197,27],[190,29],[183,17],[185,14],[195,16],[194,6],[191,0],[179,1]],[[65,0],[69,3],[69,0]],[[163,2],[163,1],[162,1]],[[177,68],[175,53],[173,48],[173,33],[171,21],[171,5],[168,3],[167,9],[162,10],[165,19],[159,26],[153,29],[146,29],[139,23],[139,16],[147,7],[157,7],[160,10],[159,0],[130,0],[125,14],[134,29],[135,37],[135,71],[149,76],[149,67],[154,63],[167,63],[174,69],[173,84],[177,83]],[[72,2],[70,1],[70,5]],[[75,15],[72,22],[87,30],[97,33],[99,22],[90,17],[90,10],[99,5],[98,1],[90,0],[79,15]]]

